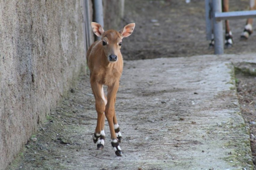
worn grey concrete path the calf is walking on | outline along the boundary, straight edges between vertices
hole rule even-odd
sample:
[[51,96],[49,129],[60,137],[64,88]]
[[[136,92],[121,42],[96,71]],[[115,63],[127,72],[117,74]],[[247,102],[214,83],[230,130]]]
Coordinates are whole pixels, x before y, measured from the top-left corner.
[[126,61],[116,101],[123,157],[114,154],[108,126],[105,148],[96,150],[94,97],[82,75],[16,169],[252,168],[230,58]]

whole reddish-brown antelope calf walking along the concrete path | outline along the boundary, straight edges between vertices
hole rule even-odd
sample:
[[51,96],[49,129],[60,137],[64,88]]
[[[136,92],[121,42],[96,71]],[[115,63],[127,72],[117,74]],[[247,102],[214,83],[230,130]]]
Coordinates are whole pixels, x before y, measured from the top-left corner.
[[[91,87],[98,114],[97,126],[92,136],[93,142],[97,144],[98,150],[104,148],[106,116],[110,129],[111,145],[117,156],[123,155],[119,146],[122,135],[115,113],[116,92],[123,71],[123,57],[120,48],[122,39],[131,35],[134,27],[135,23],[131,23],[124,26],[120,31],[104,31],[100,24],[92,22],[92,31],[98,37],[101,37],[101,40],[95,41],[86,54],[90,70]],[[108,86],[107,97],[103,91],[103,85]]]

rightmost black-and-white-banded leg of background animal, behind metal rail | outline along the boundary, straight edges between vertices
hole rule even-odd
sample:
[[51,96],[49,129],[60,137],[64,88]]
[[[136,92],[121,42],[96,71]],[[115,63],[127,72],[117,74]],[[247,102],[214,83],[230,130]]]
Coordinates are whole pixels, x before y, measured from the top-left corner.
[[[250,10],[256,10],[256,0],[250,0]],[[248,18],[246,20],[244,31],[241,34],[241,39],[247,40],[249,36],[252,34],[252,21],[252,18]]]

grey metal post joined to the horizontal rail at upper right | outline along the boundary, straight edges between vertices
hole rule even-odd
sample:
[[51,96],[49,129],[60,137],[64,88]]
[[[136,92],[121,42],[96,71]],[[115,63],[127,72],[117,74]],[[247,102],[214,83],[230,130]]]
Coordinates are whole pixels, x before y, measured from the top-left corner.
[[215,13],[222,12],[221,0],[212,1],[213,12],[213,33],[214,33],[214,54],[224,53],[223,25],[222,21],[216,21]]

